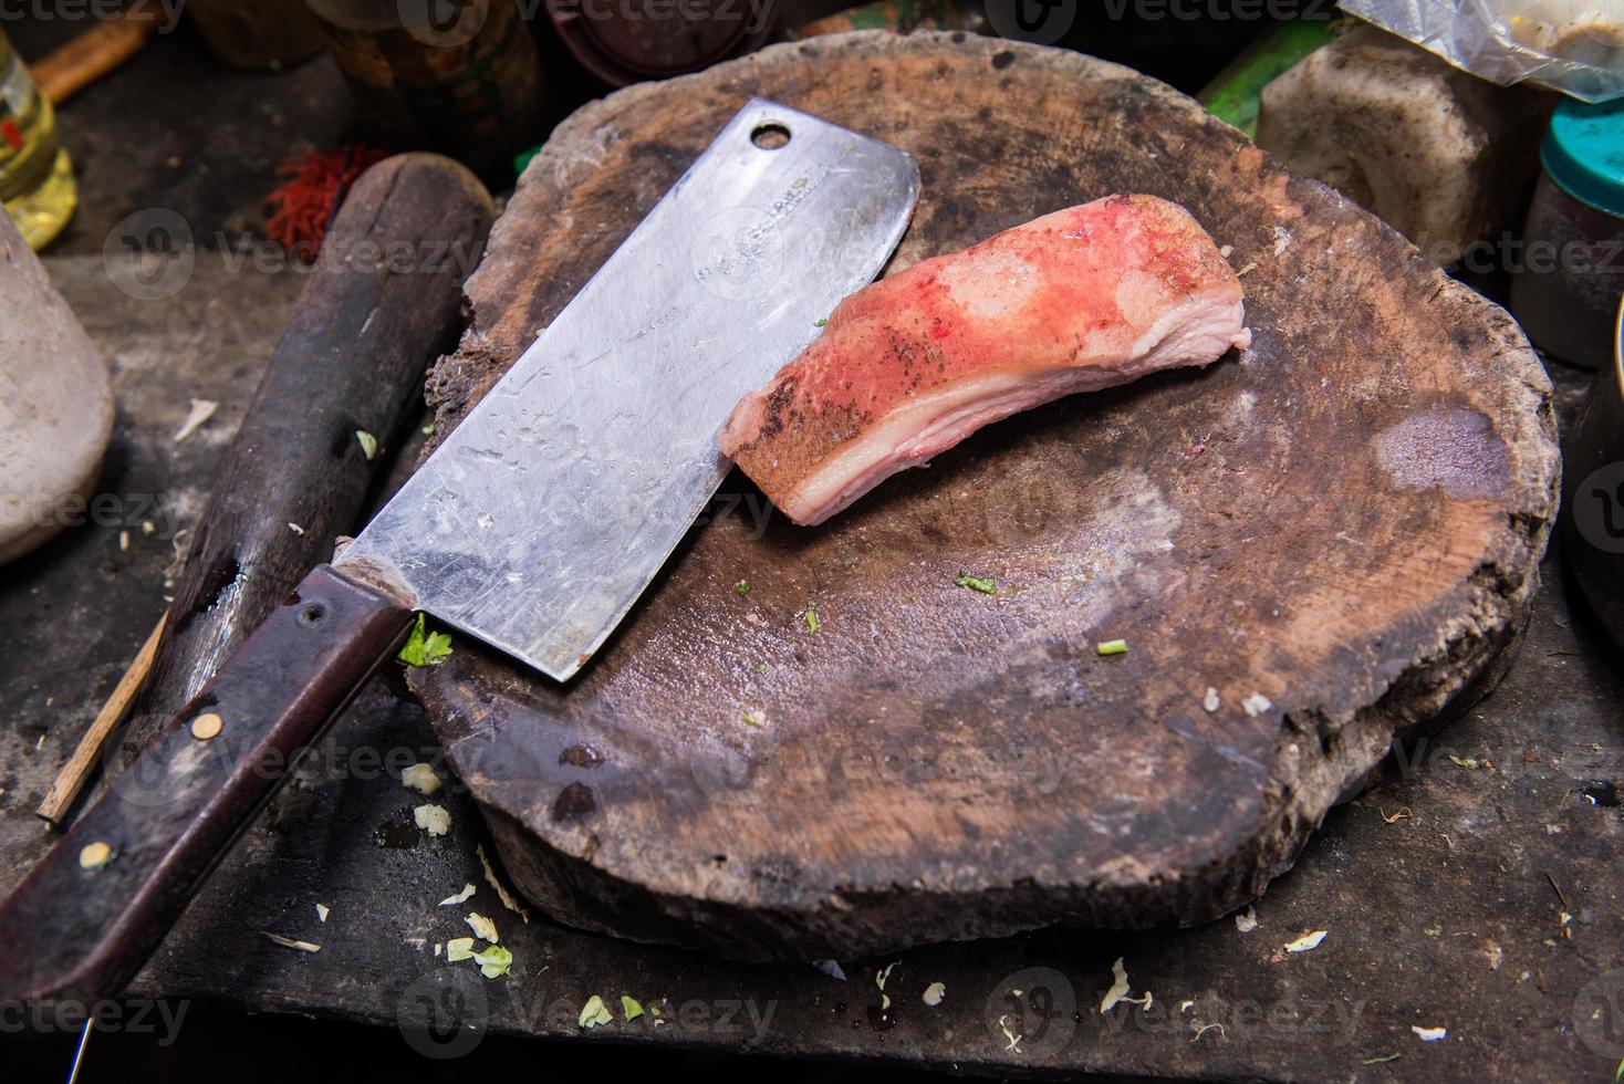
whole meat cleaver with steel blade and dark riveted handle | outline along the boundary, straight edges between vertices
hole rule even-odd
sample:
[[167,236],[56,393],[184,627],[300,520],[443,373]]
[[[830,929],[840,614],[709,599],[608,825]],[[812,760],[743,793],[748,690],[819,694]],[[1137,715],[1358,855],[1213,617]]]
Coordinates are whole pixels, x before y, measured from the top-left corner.
[[885,265],[903,151],[755,99],[395,498],[0,905],[0,1001],[123,988],[414,612],[567,682],[729,462],[716,432]]

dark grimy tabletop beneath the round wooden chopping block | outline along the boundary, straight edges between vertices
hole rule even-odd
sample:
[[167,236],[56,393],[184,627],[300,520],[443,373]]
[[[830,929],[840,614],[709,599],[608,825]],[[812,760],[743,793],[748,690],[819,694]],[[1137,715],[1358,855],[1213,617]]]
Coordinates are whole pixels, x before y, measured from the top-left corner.
[[[99,492],[117,500],[0,568],[0,889],[50,845],[32,810],[162,613],[177,532],[200,514],[302,284],[279,260],[240,260],[263,245],[253,230],[273,169],[349,138],[352,109],[325,57],[242,75],[180,34],[71,102],[62,127],[83,208],[45,265],[112,367],[119,422]],[[122,294],[102,253],[125,216],[154,209],[184,217],[195,243],[187,286],[156,302]],[[1588,375],[1554,380],[1566,432]],[[219,412],[177,445],[192,398]],[[1270,888],[1250,931],[1233,918],[1047,930],[841,961],[841,982],[521,918],[486,881],[479,816],[455,781],[442,792],[448,836],[403,828],[421,798],[400,766],[440,753],[390,672],[226,857],[133,993],[400,1027],[406,1047],[442,1056],[513,1034],[996,1074],[1611,1079],[1624,1056],[1624,673],[1564,587],[1557,548],[1499,688],[1395,748],[1382,782],[1333,810]],[[434,954],[468,933],[466,907],[437,905],[464,883],[479,886],[468,907],[513,951],[508,979]],[[1285,953],[1311,930],[1327,931],[1317,949]],[[1155,996],[1101,1014],[1117,957],[1134,996]],[[926,1006],[935,982],[945,998]],[[577,1017],[593,995],[664,1014],[617,1011],[586,1032]]]

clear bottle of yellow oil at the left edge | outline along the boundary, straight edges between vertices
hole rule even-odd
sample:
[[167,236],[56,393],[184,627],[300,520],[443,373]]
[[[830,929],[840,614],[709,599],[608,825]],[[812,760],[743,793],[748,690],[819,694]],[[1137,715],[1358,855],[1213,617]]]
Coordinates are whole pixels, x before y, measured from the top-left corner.
[[39,252],[78,206],[73,162],[57,143],[57,114],[0,31],[0,200]]

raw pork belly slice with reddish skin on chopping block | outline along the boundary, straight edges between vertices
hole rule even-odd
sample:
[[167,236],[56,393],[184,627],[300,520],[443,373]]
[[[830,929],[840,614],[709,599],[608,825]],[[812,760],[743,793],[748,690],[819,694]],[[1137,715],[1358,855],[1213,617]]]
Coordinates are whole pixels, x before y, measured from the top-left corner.
[[1246,347],[1241,281],[1176,203],[1106,196],[867,286],[721,450],[799,524],[987,422]]

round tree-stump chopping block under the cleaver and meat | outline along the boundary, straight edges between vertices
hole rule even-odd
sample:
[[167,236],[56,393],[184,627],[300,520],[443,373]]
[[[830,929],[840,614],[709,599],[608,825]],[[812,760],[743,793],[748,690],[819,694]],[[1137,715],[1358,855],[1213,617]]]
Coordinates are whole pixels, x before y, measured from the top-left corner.
[[1515,638],[1557,482],[1522,333],[1156,81],[864,32],[565,122],[469,282],[442,433],[757,94],[919,161],[890,271],[1147,191],[1233,245],[1254,342],[989,427],[822,527],[734,472],[575,683],[468,641],[417,672],[508,873],[567,923],[747,959],[1252,899]]

